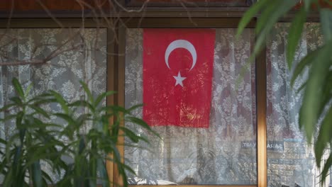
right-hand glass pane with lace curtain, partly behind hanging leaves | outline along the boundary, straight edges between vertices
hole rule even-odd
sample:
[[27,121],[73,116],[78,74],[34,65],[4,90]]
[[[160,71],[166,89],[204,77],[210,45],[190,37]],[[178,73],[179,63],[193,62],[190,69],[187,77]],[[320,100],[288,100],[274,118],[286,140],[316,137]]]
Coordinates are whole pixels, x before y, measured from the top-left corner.
[[[299,108],[303,92],[296,90],[308,76],[305,69],[294,89],[289,85],[292,72],[286,62],[289,23],[278,23],[267,43],[267,172],[268,186],[319,186],[314,150],[299,130]],[[298,62],[323,44],[318,23],[306,23],[296,53]],[[328,150],[323,157],[327,159]],[[326,178],[326,186],[330,183]]]

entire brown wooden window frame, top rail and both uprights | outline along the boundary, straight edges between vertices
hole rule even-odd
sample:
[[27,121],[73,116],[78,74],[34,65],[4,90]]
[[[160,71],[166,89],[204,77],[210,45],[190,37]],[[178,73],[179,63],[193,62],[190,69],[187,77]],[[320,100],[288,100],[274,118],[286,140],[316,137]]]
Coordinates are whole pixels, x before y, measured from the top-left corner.
[[[180,12],[177,12],[180,13]],[[183,12],[182,12],[183,13]],[[221,12],[221,14],[226,12]],[[243,13],[239,11],[238,13]],[[221,16],[218,13],[215,16],[207,16],[201,18],[201,12],[197,12],[194,18],[188,18],[179,15],[182,18],[124,18],[114,19],[116,29],[107,29],[107,63],[106,63],[106,89],[117,91],[116,96],[109,96],[107,98],[107,105],[124,106],[125,99],[125,42],[126,42],[126,28],[237,28],[240,18],[216,18]],[[235,13],[234,15],[238,15]],[[153,16],[151,16],[153,17]],[[198,18],[197,18],[198,17]],[[236,16],[235,16],[236,17]],[[111,21],[114,21],[110,18]],[[104,20],[96,22],[95,19],[87,18],[82,22],[82,18],[59,18],[58,21],[62,23],[65,28],[107,28],[107,23]],[[6,28],[8,19],[0,19],[0,28]],[[254,28],[255,21],[252,21],[248,28]],[[13,18],[11,19],[10,28],[60,28],[56,21],[50,18]],[[117,40],[110,40],[110,38],[117,38]],[[118,54],[118,55],[116,55]],[[265,64],[265,50],[256,57],[256,110],[257,110],[257,185],[195,185],[197,187],[265,187],[267,186],[267,149],[266,149],[266,64]],[[110,119],[111,121],[113,119]],[[124,125],[124,124],[122,124]],[[121,156],[124,156],[124,139],[119,139],[118,149]],[[121,179],[116,171],[116,166],[113,163],[106,163],[109,172],[109,179],[121,185]],[[132,186],[132,185],[131,185]],[[191,187],[193,185],[190,185]],[[133,187],[138,187],[133,185]],[[140,187],[151,187],[150,185]],[[158,186],[167,187],[167,186]],[[180,185],[179,187],[189,187]]]

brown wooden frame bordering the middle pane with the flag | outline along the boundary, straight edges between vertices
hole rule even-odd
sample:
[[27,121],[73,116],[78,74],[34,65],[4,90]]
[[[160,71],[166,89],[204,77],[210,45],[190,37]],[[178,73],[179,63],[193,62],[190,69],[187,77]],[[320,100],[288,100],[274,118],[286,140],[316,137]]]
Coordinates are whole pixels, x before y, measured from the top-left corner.
[[[125,96],[125,52],[126,52],[126,28],[237,28],[239,18],[125,18],[122,19],[118,25],[118,59],[114,61],[116,64],[117,77],[117,91],[118,96],[116,101],[121,106],[124,106]],[[255,21],[249,23],[247,28],[255,28]],[[240,185],[242,187],[265,187],[267,186],[267,135],[266,135],[266,64],[265,64],[265,50],[262,50],[260,55],[255,60],[256,69],[256,110],[257,110],[257,185]],[[258,70],[259,69],[259,70]],[[123,138],[120,144],[123,145]],[[119,146],[121,156],[124,156],[123,146]],[[114,169],[114,181],[121,183]],[[153,185],[130,185],[133,187],[151,187]],[[189,185],[197,187],[240,187],[238,185]],[[179,187],[189,187],[187,185],[179,185]],[[160,186],[158,187],[167,187]]]

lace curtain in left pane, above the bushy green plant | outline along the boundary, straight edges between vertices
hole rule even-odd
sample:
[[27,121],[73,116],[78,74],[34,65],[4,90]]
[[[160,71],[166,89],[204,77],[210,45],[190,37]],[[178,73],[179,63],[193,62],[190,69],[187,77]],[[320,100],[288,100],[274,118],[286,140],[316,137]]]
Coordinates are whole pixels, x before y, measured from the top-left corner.
[[[85,81],[93,94],[106,91],[106,29],[2,29],[0,30],[0,62],[38,62],[55,55],[44,64],[0,67],[0,107],[14,96],[11,80],[18,78],[23,87],[33,84],[31,97],[58,91],[67,101],[84,97],[79,81]],[[45,110],[59,111],[60,106],[46,105]],[[84,111],[82,111],[84,112]],[[9,112],[0,113],[3,118]],[[57,119],[52,119],[57,120]],[[1,123],[0,135],[8,138],[13,121]],[[52,168],[44,163],[52,174]],[[53,178],[58,176],[53,174]]]

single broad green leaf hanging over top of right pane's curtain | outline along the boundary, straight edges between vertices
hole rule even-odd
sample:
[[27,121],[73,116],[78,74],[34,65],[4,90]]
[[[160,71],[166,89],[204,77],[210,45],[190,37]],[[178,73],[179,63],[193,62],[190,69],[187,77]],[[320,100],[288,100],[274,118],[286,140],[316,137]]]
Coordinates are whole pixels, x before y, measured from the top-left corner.
[[299,45],[299,40],[301,39],[302,30],[305,21],[306,21],[306,11],[304,10],[304,8],[301,8],[292,21],[287,38],[288,42],[287,42],[286,56],[287,56],[287,64],[289,69],[292,67],[295,51],[297,50],[297,46]]

